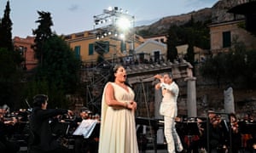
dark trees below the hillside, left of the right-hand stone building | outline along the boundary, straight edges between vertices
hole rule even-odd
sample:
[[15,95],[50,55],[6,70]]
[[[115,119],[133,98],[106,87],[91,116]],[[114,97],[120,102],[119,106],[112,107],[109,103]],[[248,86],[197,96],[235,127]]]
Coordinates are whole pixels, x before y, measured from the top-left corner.
[[195,53],[194,47],[210,48],[210,35],[207,28],[207,22],[195,22],[193,16],[191,20],[183,26],[171,26],[167,37],[167,59],[171,61],[177,58],[177,45],[188,44],[188,52],[185,54],[185,59],[194,65]]

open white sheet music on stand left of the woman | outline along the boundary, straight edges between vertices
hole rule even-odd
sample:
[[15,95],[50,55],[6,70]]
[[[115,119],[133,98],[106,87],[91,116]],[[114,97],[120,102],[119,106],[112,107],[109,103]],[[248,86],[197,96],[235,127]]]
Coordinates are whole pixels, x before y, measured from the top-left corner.
[[79,127],[73,132],[73,135],[83,135],[84,139],[88,139],[96,126],[97,120],[83,120]]

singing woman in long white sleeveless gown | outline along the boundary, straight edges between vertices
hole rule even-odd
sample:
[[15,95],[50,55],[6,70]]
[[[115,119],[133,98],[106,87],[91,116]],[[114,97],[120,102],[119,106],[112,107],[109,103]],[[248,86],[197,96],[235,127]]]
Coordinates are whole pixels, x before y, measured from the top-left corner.
[[137,103],[122,65],[115,65],[102,94],[99,153],[138,153],[134,111]]

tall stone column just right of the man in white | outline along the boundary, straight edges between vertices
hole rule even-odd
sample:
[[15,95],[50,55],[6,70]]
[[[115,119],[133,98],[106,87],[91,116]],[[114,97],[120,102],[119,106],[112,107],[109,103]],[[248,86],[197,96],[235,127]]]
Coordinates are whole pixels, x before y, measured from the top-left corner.
[[187,81],[187,109],[188,109],[188,117],[196,117],[197,109],[196,109],[196,88],[195,88],[195,77],[187,77],[185,81]]

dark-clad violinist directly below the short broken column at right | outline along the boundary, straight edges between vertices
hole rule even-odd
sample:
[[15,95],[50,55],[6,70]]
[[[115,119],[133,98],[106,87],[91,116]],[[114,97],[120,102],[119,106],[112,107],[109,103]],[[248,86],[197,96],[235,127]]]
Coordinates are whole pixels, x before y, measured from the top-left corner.
[[241,133],[239,130],[236,114],[230,113],[230,150],[232,153],[238,153],[241,150]]

